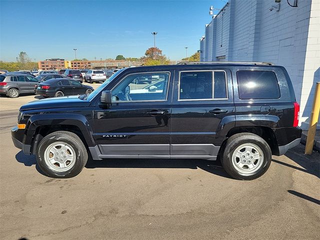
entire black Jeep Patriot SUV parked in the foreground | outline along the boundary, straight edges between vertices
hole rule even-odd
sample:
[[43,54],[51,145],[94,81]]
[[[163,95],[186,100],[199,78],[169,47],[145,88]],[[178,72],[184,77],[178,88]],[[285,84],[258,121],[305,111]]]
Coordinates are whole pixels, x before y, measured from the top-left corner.
[[[151,78],[147,84],[137,79]],[[154,84],[157,81],[159,84]],[[118,70],[88,95],[21,106],[14,145],[51,177],[103,158],[221,160],[237,179],[261,176],[271,155],[299,144],[288,73],[263,62],[203,62]]]

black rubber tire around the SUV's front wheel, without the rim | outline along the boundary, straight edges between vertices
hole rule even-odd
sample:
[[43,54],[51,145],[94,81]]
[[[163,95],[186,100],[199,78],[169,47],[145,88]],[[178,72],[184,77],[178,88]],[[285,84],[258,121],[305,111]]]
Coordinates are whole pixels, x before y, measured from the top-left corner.
[[[50,168],[44,160],[45,149],[56,141],[62,141],[71,145],[75,151],[75,162],[74,165],[64,172],[55,171]],[[84,154],[82,147],[78,144],[76,139],[64,134],[51,135],[50,137],[44,137],[38,144],[36,149],[36,161],[41,170],[50,177],[55,178],[68,178],[77,175],[83,168]]]

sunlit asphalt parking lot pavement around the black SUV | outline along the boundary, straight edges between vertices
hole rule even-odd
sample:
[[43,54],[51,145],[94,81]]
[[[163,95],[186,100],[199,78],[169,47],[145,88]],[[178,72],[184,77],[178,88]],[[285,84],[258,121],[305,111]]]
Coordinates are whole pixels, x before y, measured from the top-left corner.
[[0,239],[320,238],[318,152],[300,144],[252,181],[191,159],[89,161],[53,179],[10,136],[16,109],[37,98],[0,98]]

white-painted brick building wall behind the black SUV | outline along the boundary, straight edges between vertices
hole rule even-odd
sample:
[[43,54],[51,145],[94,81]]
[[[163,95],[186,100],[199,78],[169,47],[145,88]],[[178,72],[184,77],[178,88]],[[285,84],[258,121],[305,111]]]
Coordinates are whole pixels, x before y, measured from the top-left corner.
[[[205,25],[200,61],[270,61],[283,65],[308,127],[320,81],[319,0],[229,0]],[[290,6],[291,5],[291,6]]]

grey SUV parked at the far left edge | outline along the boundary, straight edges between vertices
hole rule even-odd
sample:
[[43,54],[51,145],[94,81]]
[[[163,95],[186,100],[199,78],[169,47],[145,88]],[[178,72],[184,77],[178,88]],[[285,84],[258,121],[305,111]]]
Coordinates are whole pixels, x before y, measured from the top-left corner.
[[3,73],[0,75],[0,94],[18,97],[20,93],[34,93],[38,80],[27,73]]

